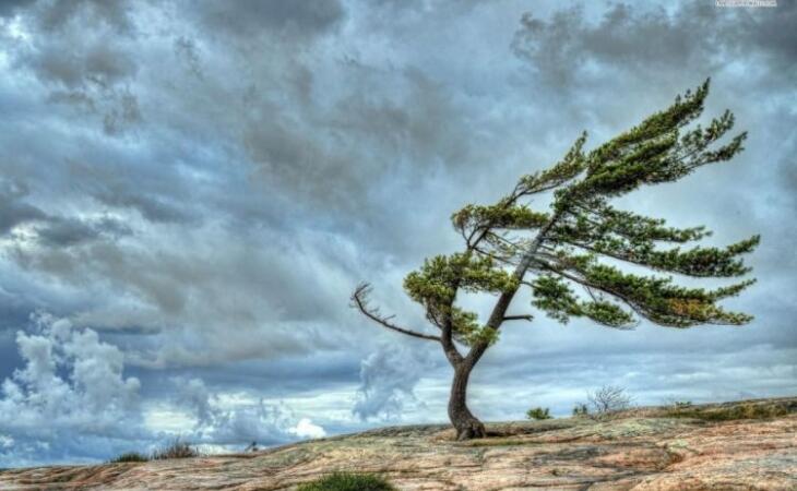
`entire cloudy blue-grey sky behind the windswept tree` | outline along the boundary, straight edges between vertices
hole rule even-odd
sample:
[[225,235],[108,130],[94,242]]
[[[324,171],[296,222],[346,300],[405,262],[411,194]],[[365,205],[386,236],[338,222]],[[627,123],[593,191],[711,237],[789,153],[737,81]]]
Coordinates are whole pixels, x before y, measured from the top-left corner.
[[746,151],[617,206],[761,233],[726,303],[756,320],[561,325],[524,294],[469,404],[795,395],[795,25],[792,0],[1,1],[0,467],[444,422],[440,347],[355,286],[428,328],[402,278],[462,248],[452,212],[710,76]]

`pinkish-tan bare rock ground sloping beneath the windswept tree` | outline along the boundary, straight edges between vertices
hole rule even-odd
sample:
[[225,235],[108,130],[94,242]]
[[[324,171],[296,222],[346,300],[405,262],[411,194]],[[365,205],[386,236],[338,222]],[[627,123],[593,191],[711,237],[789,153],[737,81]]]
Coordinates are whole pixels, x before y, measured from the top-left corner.
[[797,490],[797,397],[643,408],[609,419],[388,428],[270,451],[0,471],[2,490],[290,490],[332,470],[401,490]]

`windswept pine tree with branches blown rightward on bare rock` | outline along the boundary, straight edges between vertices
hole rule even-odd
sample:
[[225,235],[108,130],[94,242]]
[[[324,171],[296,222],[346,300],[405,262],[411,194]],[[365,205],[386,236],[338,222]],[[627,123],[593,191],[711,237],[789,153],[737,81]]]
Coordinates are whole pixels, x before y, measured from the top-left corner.
[[[509,313],[522,288],[531,290],[533,307],[561,323],[586,318],[607,327],[632,328],[645,319],[683,328],[739,325],[752,319],[726,311],[717,302],[736,296],[754,279],[705,289],[678,285],[673,275],[745,275],[750,268],[740,255],[756,248],[759,236],[726,248],[681,249],[671,244],[699,241],[711,232],[702,226],[670,227],[664,219],[611,205],[614,197],[677,181],[704,165],[729,160],[742,149],[746,133],[719,143],[734,125],[729,111],[705,128],[687,128],[703,111],[707,94],[709,81],[591,152],[584,151],[583,133],[560,161],[521,177],[512,192],[495,204],[468,204],[454,213],[451,219],[464,250],[427,259],[404,279],[406,292],[424,307],[436,334],[402,327],[393,316],[381,314],[369,304],[368,284],[354,291],[353,307],[372,321],[441,345],[454,369],[449,417],[459,440],[485,436],[484,424],[466,404],[467,383],[505,322],[533,320],[531,314]],[[528,201],[540,194],[550,204],[547,209],[533,209]],[[633,272],[640,267],[668,275]],[[473,292],[497,296],[484,323],[475,312],[457,306],[457,296]]]

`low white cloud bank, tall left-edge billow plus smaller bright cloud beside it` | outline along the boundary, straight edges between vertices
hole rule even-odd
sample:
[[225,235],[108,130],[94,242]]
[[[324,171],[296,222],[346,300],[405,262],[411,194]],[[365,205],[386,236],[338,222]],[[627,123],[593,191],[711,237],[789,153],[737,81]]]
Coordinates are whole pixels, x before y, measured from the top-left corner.
[[46,313],[16,333],[23,367],[0,386],[3,465],[92,462],[120,452],[146,452],[180,435],[197,444],[240,448],[321,438],[324,429],[283,404],[223,404],[202,380],[177,380],[171,412],[194,426],[158,431],[147,424],[140,381],[124,376],[124,354],[90,328]]

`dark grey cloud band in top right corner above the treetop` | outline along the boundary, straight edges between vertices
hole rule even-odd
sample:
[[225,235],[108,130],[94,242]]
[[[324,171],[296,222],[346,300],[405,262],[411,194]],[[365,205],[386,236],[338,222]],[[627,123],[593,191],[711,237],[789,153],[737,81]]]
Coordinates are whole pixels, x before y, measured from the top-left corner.
[[618,3],[597,22],[573,7],[550,19],[524,14],[513,48],[552,83],[578,83],[591,73],[603,77],[608,68],[651,77],[685,68],[715,73],[757,57],[769,76],[785,77],[797,70],[797,34],[789,27],[795,21],[793,2],[754,12],[710,2],[685,2],[673,12]]

